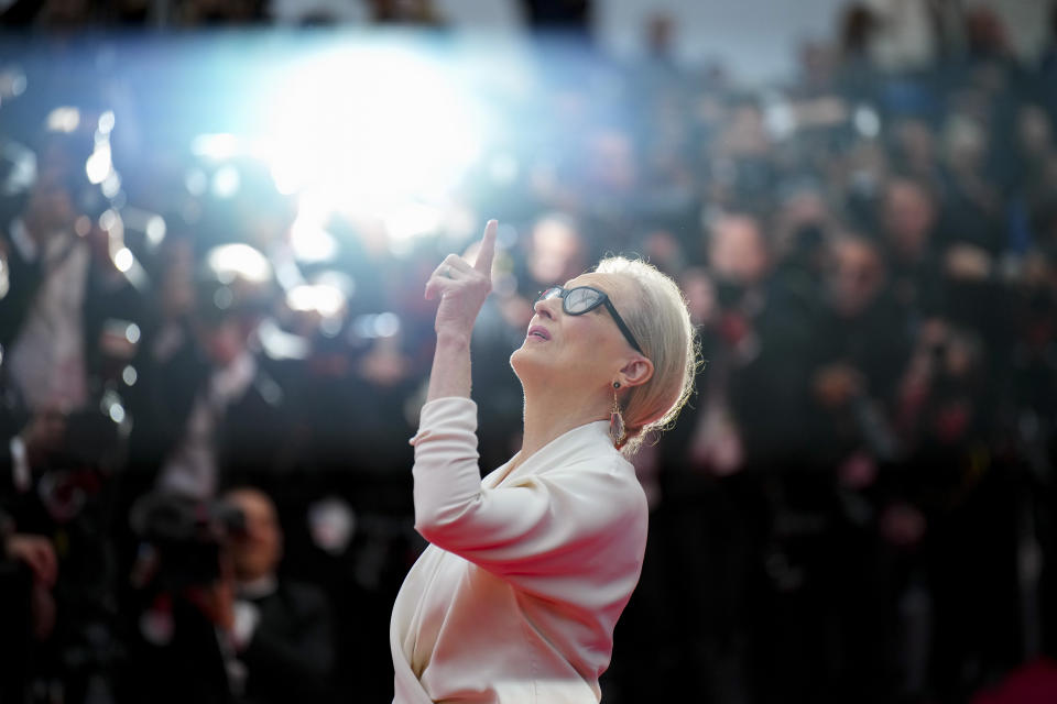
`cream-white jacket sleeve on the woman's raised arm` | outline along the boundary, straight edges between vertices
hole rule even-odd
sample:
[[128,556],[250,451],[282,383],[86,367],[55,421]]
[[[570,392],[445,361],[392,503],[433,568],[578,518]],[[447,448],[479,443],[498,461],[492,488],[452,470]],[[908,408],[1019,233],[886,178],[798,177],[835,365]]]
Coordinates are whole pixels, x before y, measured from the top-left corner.
[[[645,499],[615,453],[481,486],[477,406],[439,398],[422,409],[413,469],[415,528],[429,542],[509,581],[591,575],[604,581],[629,530],[645,534]],[[636,524],[642,521],[642,526]],[[614,550],[614,548],[617,548]],[[636,550],[628,560],[638,560]],[[623,562],[623,560],[618,560]]]

